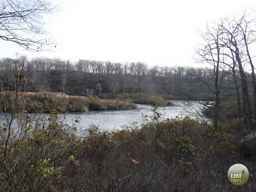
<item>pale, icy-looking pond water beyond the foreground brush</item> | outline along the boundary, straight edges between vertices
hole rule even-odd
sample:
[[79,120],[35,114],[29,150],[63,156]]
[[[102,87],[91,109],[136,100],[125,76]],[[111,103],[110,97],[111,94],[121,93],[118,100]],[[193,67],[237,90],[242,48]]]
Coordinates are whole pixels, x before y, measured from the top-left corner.
[[[175,106],[159,107],[158,111],[163,118],[175,118],[176,116],[190,116],[200,120],[204,106],[195,101],[172,101]],[[152,106],[138,104],[138,109],[122,111],[88,111],[69,113],[66,116],[67,122],[79,120],[79,127],[85,129],[90,125],[97,125],[100,129],[122,129],[122,126],[130,126],[132,123],[141,124],[143,116],[152,115]]]

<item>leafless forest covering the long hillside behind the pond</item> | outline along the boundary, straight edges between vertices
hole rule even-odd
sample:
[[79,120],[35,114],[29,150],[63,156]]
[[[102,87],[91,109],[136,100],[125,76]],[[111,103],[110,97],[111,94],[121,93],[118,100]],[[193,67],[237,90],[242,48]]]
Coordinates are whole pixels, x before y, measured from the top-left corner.
[[[19,65],[15,65],[19,63]],[[33,58],[0,60],[4,86],[14,90],[16,67],[26,77],[26,92],[62,92],[68,95],[116,95],[147,93],[166,99],[213,100],[214,70],[200,67],[159,67],[145,63]],[[222,99],[235,95],[232,71],[225,71]],[[250,79],[249,79],[250,80]],[[207,82],[208,84],[205,84]],[[209,85],[210,84],[210,85]]]

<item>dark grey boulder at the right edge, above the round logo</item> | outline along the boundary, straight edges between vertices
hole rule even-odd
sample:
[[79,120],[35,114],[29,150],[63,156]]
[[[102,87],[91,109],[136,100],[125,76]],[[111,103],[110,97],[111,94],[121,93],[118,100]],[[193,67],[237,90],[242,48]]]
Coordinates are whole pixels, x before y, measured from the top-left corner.
[[256,157],[256,132],[244,136],[238,143],[239,154],[243,159]]

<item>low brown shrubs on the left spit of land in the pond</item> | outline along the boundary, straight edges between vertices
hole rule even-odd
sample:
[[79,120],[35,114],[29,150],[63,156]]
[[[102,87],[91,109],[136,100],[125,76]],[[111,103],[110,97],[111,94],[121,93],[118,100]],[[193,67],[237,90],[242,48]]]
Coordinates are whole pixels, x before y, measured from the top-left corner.
[[[61,112],[74,111],[100,111],[100,110],[120,110],[136,109],[137,106],[131,102],[122,102],[116,100],[102,100],[99,97],[77,97],[69,96],[64,93],[20,93],[24,99],[25,109],[28,113],[49,113],[52,109]],[[7,99],[11,99],[15,92],[6,92]],[[4,105],[1,104],[4,111]]]

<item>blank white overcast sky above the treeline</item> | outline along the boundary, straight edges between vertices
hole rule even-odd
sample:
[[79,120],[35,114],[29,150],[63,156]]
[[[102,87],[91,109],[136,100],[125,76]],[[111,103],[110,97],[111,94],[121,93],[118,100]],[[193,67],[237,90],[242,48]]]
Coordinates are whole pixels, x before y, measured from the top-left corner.
[[0,40],[0,58],[47,56],[137,62],[148,65],[193,65],[198,30],[243,8],[256,10],[256,1],[58,0],[61,7],[46,28],[59,43],[58,51],[33,53]]

